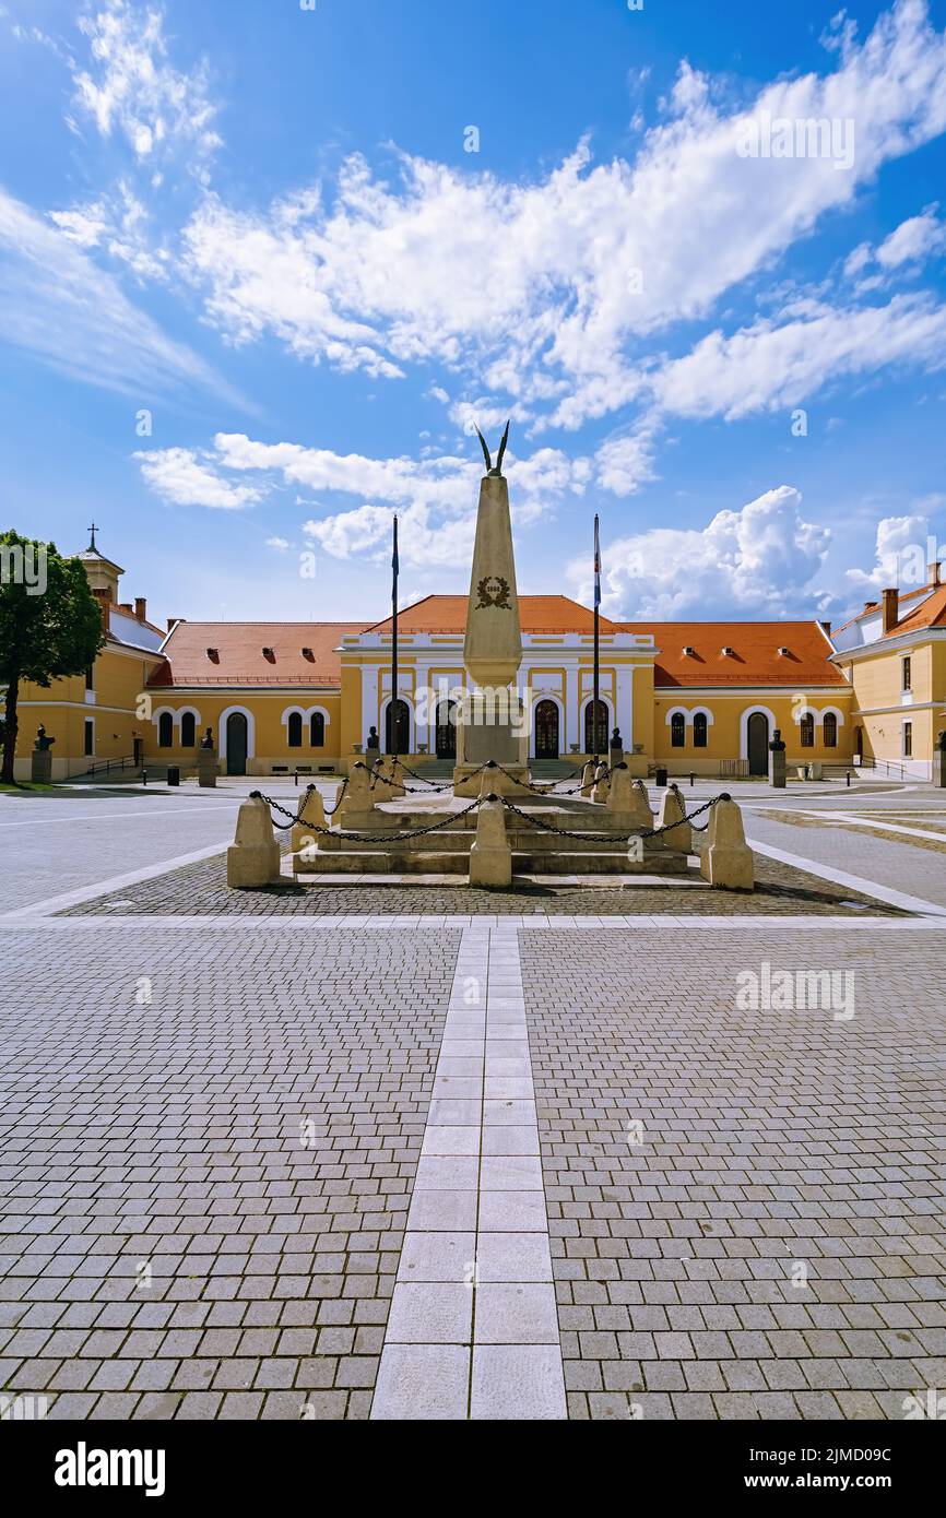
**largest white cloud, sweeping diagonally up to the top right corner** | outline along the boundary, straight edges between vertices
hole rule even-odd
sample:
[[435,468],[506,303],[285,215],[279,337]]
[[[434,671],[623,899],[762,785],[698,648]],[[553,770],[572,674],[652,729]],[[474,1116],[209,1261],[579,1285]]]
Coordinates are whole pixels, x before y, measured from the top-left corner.
[[[355,155],[334,197],[310,187],[257,214],[208,199],[185,231],[187,267],[234,342],[273,332],[302,358],[389,378],[439,360],[484,380],[497,413],[510,410],[503,392],[534,428],[579,427],[647,396],[657,332],[706,317],[944,129],[946,39],[922,0],[899,0],[861,46],[840,21],[829,41],[832,71],[780,77],[741,115],[683,64],[676,114],[633,164],[592,165],[582,144],[515,184],[402,156],[387,182]],[[852,120],[852,170],[739,156],[762,111]]]

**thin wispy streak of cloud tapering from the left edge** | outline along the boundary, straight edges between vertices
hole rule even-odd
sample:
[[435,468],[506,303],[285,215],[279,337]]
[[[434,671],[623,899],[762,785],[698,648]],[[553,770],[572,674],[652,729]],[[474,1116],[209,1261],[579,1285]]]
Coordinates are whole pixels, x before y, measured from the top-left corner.
[[64,232],[0,190],[0,339],[61,373],[135,396],[214,390],[244,402],[173,342]]

